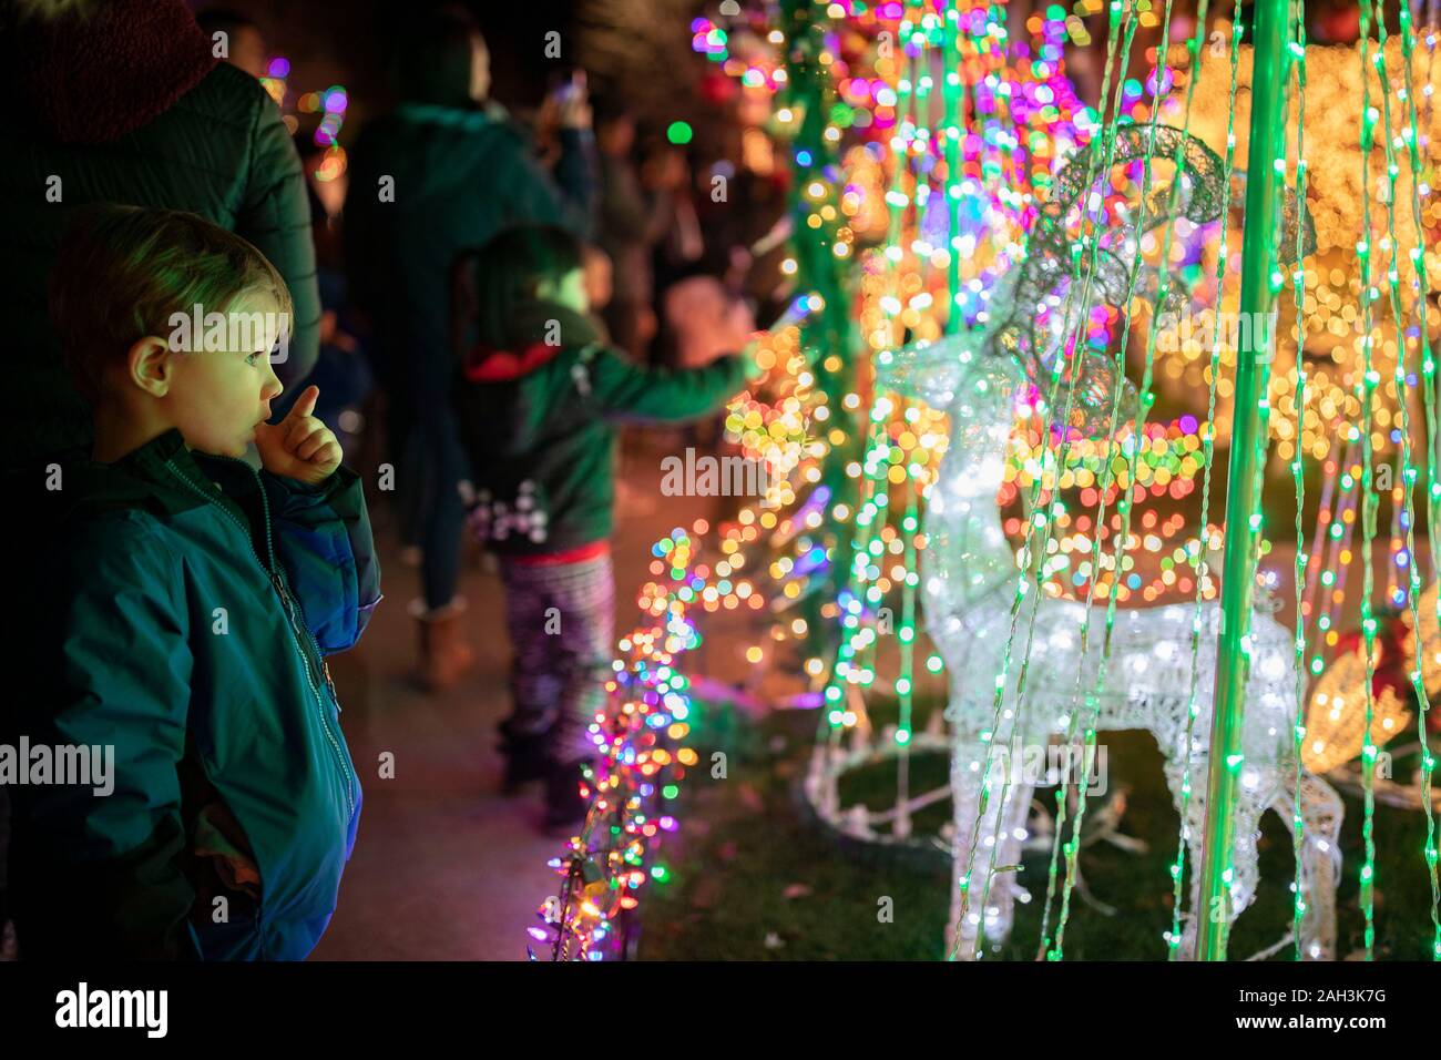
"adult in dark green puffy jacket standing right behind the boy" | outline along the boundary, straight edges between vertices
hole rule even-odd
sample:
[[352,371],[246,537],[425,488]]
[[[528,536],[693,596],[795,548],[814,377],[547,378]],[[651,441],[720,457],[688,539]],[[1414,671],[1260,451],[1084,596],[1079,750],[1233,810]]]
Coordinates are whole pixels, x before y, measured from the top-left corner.
[[[16,22],[16,10],[49,10]],[[0,466],[88,456],[89,412],[66,376],[45,284],[71,209],[88,202],[199,213],[245,237],[294,300],[288,361],[300,394],[320,352],[310,211],[280,111],[218,63],[180,0],[7,7],[0,33],[0,316],[7,327]],[[56,16],[61,10],[65,14]],[[277,405],[282,412],[284,404]]]

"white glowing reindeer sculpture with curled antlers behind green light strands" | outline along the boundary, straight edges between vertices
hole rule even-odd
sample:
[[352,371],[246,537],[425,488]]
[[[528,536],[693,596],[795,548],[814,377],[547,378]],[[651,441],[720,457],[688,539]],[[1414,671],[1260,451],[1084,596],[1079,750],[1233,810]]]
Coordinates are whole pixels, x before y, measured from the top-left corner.
[[[1140,153],[1147,128],[1123,130],[1118,162]],[[1195,224],[1219,216],[1225,196],[1208,193],[1205,183],[1219,169],[1219,162],[1205,146],[1185,138],[1177,130],[1157,127],[1157,159],[1170,157],[1177,147],[1186,150],[1182,189],[1174,199],[1180,216]],[[1099,632],[1104,601],[1095,607],[1095,632],[1087,639],[1084,653],[1084,603],[1046,597],[1035,591],[1032,583],[1014,620],[1012,614],[1020,571],[1001,531],[996,495],[1017,404],[1029,389],[1027,378],[1036,384],[1049,376],[1048,349],[1055,356],[1059,348],[1055,339],[1066,332],[1062,322],[1053,329],[1053,337],[1046,337],[1042,335],[1045,324],[1038,320],[1048,306],[1061,303],[1058,277],[1069,274],[1061,213],[1068,199],[1081,202],[1076,192],[1084,192],[1089,183],[1078,179],[1078,166],[1072,163],[1069,176],[1063,172],[1058,177],[1062,205],[1049,218],[1043,216],[1032,234],[1026,262],[997,284],[989,303],[993,319],[983,329],[883,353],[878,359],[878,387],[944,410],[951,421],[950,446],[927,500],[922,591],[927,629],[945,659],[951,682],[947,718],[955,835],[953,937],[948,943],[963,959],[980,955],[981,933],[999,942],[1010,932],[1019,884],[1013,871],[994,870],[1020,862],[1032,802],[1033,785],[1014,776],[1014,770],[1006,777],[994,757],[987,769],[987,757],[1007,746],[1045,746],[1068,734],[1076,738],[1075,734],[1087,728],[1098,733],[1144,728],[1156,737],[1177,811],[1185,803],[1182,826],[1192,885],[1179,955],[1195,953],[1219,603],[1205,603],[1199,611],[1195,603],[1118,610],[1104,671],[1105,636]],[[1065,195],[1068,182],[1069,196]],[[1151,216],[1161,212],[1156,209]],[[1301,221],[1304,224],[1304,218]],[[1098,255],[1104,258],[1097,265],[1098,290],[1111,304],[1125,304],[1127,300],[1117,294],[1140,288],[1140,283],[1131,287],[1124,264],[1134,255],[1136,238],[1136,231],[1123,231],[1121,238]],[[1134,389],[1124,379],[1115,379],[1108,359],[1091,355],[1081,361],[1076,388],[1082,395],[1072,401],[1071,423],[1104,434],[1112,418],[1112,395],[1128,417],[1134,414]],[[1120,423],[1124,425],[1125,418]],[[1192,718],[1190,633],[1197,616],[1197,712]],[[1012,630],[1016,630],[1014,637]],[[1029,637],[1032,632],[1033,639]],[[1027,640],[1029,672],[1020,697],[1020,662]],[[1003,673],[1003,698],[997,699]],[[1304,767],[1297,769],[1294,725],[1293,635],[1271,614],[1257,610],[1251,619],[1242,736],[1245,760],[1235,808],[1229,914],[1233,919],[1255,896],[1261,813],[1274,809],[1290,831],[1298,795],[1304,821],[1301,953],[1307,959],[1330,959],[1336,936],[1342,803],[1329,785]],[[1183,798],[1187,785],[1189,796]]]

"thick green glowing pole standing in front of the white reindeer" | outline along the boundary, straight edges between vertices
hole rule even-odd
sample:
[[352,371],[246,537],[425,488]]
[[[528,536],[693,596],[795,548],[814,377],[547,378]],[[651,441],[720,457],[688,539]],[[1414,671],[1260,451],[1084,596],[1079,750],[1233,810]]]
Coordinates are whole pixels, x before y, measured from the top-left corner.
[[1231,845],[1235,838],[1236,779],[1251,661],[1252,555],[1259,534],[1258,470],[1265,453],[1259,437],[1261,401],[1257,376],[1275,340],[1271,307],[1275,278],[1277,159],[1285,160],[1285,32],[1287,1],[1257,0],[1257,33],[1251,78],[1251,153],[1246,162],[1245,235],[1241,247],[1241,320],[1268,322],[1236,329],[1236,397],[1231,420],[1231,470],[1226,480],[1225,564],[1221,581],[1221,646],[1216,658],[1215,712],[1210,723],[1210,773],[1206,782],[1206,835],[1200,862],[1202,960],[1226,959],[1231,922]]

